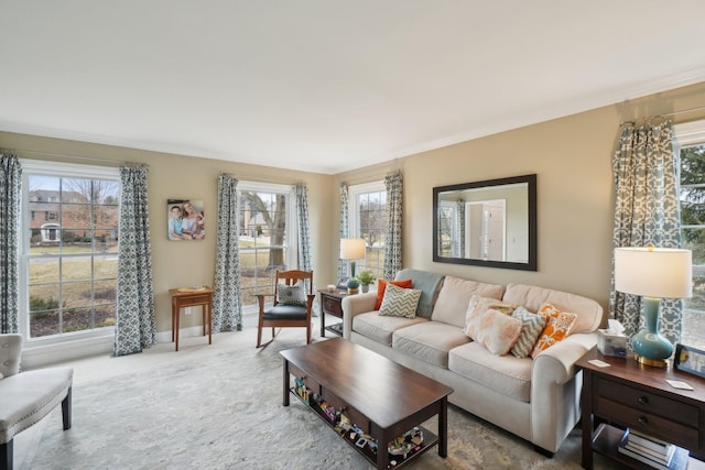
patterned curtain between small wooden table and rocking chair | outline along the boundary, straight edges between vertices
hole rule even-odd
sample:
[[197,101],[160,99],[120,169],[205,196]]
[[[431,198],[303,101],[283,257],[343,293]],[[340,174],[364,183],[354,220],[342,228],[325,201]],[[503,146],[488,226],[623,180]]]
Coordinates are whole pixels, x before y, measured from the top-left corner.
[[242,330],[240,249],[238,247],[238,181],[218,177],[218,234],[213,294],[213,331]]

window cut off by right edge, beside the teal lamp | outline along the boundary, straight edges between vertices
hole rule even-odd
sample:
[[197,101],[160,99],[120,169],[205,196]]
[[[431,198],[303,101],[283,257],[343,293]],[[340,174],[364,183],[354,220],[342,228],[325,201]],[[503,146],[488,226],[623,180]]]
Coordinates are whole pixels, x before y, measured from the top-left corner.
[[705,349],[705,121],[674,125],[683,248],[693,251],[693,297],[683,300],[681,342]]

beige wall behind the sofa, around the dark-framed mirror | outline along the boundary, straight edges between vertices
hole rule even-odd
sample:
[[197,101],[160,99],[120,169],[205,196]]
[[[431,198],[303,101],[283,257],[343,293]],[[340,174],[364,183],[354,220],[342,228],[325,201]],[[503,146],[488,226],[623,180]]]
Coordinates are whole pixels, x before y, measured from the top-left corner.
[[[525,283],[582,294],[607,307],[611,270],[611,153],[619,124],[705,106],[705,84],[530,125],[336,176],[356,184],[401,168],[404,266],[490,283]],[[676,114],[675,122],[705,118]],[[432,247],[434,186],[535,173],[539,270],[436,263]],[[336,183],[337,185],[338,183]]]

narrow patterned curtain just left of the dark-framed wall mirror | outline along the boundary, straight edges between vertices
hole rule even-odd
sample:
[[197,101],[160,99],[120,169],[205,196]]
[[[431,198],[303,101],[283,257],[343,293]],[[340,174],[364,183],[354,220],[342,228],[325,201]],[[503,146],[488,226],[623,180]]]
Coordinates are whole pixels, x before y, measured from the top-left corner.
[[401,260],[401,222],[402,222],[402,184],[401,173],[384,177],[387,189],[387,227],[384,231],[384,278],[393,280],[402,269]]

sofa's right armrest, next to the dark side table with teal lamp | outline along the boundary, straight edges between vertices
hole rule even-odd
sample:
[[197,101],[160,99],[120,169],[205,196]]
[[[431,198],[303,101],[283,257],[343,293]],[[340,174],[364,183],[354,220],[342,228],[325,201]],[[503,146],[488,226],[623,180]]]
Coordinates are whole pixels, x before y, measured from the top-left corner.
[[531,441],[551,452],[577,423],[583,375],[575,362],[597,345],[596,332],[570,335],[536,356],[531,370]]

